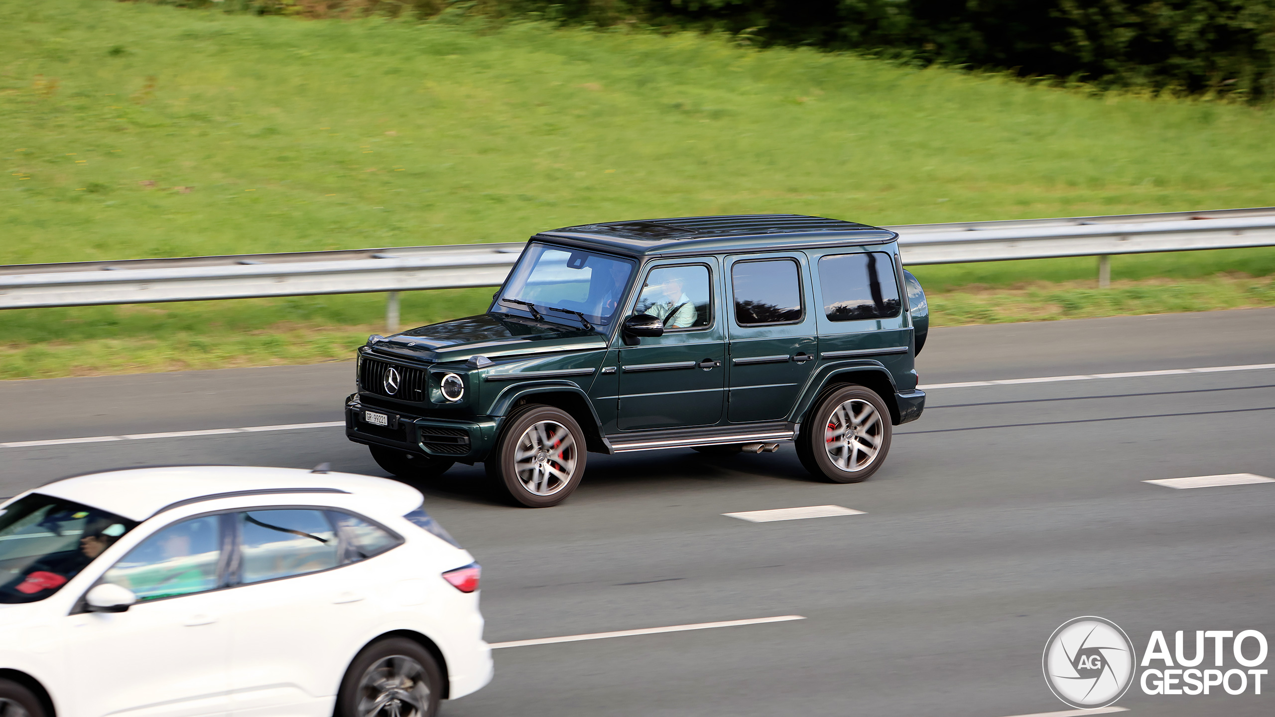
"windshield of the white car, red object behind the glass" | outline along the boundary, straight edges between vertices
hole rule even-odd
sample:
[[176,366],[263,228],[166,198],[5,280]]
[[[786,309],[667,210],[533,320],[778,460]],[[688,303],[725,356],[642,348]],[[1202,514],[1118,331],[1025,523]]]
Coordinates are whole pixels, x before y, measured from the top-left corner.
[[57,592],[138,523],[33,492],[0,509],[0,603]]

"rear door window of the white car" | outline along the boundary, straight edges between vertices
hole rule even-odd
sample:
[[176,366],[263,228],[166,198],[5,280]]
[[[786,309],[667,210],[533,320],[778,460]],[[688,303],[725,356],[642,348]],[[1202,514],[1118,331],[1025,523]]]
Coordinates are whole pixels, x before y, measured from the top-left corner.
[[340,561],[337,533],[323,510],[249,510],[236,522],[241,583],[326,570]]

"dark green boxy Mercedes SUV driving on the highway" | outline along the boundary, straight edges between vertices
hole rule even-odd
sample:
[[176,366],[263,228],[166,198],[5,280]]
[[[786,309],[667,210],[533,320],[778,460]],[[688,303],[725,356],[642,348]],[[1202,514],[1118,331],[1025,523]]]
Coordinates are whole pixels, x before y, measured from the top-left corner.
[[455,462],[528,506],[585,454],[775,450],[858,482],[924,408],[921,285],[891,231],[820,217],[683,217],[530,239],[486,314],[358,350],[346,435],[422,480]]

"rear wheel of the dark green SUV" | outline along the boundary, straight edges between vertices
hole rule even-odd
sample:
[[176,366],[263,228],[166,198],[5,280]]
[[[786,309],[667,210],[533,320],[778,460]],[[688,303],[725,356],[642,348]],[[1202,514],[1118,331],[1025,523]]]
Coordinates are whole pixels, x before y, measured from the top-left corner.
[[[841,426],[854,427],[844,440]],[[827,394],[797,436],[797,457],[807,471],[834,484],[864,481],[890,453],[890,410],[877,393],[862,385],[841,387]]]

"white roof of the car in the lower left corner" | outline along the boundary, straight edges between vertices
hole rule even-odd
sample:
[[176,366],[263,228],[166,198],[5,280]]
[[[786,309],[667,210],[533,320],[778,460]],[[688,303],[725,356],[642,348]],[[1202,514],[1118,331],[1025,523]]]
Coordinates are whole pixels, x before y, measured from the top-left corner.
[[296,495],[309,495],[310,500],[317,498],[315,494],[339,491],[385,501],[388,509],[399,510],[399,514],[411,512],[423,501],[421,491],[389,478],[247,466],[126,468],[62,478],[34,489],[33,492],[145,521],[173,503],[244,491],[277,494],[274,498],[284,501],[284,496],[293,491]]

